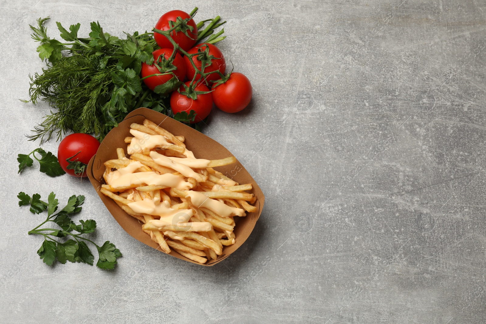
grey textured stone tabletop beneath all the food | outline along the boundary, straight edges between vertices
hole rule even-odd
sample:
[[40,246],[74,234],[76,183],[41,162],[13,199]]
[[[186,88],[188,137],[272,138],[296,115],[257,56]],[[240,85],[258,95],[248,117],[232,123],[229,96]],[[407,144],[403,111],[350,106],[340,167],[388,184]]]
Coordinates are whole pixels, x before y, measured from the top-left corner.
[[[257,226],[201,267],[127,235],[88,181],[17,176],[49,111],[18,99],[43,66],[29,24],[150,30],[221,15],[219,47],[254,87],[203,132],[266,196]],[[486,1],[2,1],[0,323],[486,323]],[[43,145],[56,152],[57,144]],[[48,267],[19,191],[86,195],[117,269]]]

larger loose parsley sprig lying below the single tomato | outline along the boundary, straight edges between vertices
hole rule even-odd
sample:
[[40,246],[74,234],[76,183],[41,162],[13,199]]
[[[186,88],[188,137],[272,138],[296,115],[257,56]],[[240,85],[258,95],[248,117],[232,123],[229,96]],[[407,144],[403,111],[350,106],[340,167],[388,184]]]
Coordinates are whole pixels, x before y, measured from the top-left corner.
[[[115,267],[117,258],[121,256],[121,253],[113,243],[106,241],[102,246],[99,246],[92,240],[83,237],[84,234],[93,233],[95,231],[96,222],[93,220],[80,220],[79,224],[76,224],[70,218],[70,216],[81,211],[81,205],[83,205],[85,196],[73,195],[69,197],[68,204],[58,212],[59,202],[56,199],[54,192],[49,194],[47,203],[40,200],[40,195],[38,193],[35,193],[30,197],[25,192],[19,192],[17,198],[19,199],[18,205],[30,205],[30,211],[32,213],[40,214],[47,210],[46,220],[28,232],[29,235],[37,234],[44,237],[44,241],[37,251],[37,254],[45,264],[51,266],[57,259],[57,261],[62,264],[69,261],[84,262],[93,265],[94,256],[86,243],[89,242],[96,246],[96,249],[98,250],[98,262],[96,263],[98,268],[110,270]],[[55,223],[60,229],[39,228],[48,222]],[[72,239],[67,239],[64,242],[59,240],[69,236]]]

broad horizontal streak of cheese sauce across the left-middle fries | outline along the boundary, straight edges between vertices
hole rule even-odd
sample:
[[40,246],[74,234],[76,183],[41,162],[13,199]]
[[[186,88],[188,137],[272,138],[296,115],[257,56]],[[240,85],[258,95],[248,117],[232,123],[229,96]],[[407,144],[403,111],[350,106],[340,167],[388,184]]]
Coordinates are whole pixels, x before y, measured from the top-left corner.
[[153,171],[135,172],[141,167],[143,165],[139,161],[136,161],[117,171],[112,171],[106,176],[106,183],[111,187],[147,184],[177,188],[179,190],[188,190],[192,186],[189,182],[184,181],[184,178],[172,173],[157,174]]

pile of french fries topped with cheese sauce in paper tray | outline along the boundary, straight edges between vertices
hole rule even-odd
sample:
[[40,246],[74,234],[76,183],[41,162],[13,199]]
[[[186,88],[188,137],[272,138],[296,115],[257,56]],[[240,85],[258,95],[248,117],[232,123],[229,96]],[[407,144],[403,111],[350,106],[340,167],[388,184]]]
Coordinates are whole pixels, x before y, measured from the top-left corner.
[[[100,191],[139,220],[141,230],[161,251],[171,253],[172,248],[199,263],[221,256],[225,246],[236,242],[235,215],[257,210],[251,205],[256,199],[248,192],[251,184],[240,185],[213,169],[235,163],[236,158],[194,158],[184,136],[148,119],[130,128],[138,131],[131,133],[140,147],[129,152],[129,158],[129,150],[117,148],[118,158],[104,162],[106,183]],[[152,146],[144,146],[139,132]],[[130,145],[133,138],[125,137],[124,142]]]

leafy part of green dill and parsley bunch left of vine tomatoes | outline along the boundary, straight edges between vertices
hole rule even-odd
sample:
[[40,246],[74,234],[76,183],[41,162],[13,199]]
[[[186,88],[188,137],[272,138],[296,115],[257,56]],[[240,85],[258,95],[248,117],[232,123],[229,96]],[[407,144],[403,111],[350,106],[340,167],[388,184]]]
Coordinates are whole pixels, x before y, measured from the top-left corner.
[[57,22],[66,41],[62,43],[47,35],[44,23],[48,19],[39,18],[37,27],[30,26],[32,38],[41,44],[37,48],[39,57],[49,63],[42,73],[31,76],[29,95],[34,104],[42,99],[55,111],[35,127],[31,139],[49,140],[56,133],[59,140],[68,131],[102,139],[135,108],[168,112],[162,97],[149,89],[142,91],[139,78],[141,63],[154,61],[152,33],[135,32],[120,39],[92,22],[89,37],[81,38],[79,23],[67,31]]

